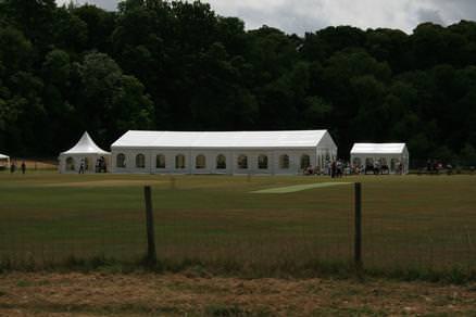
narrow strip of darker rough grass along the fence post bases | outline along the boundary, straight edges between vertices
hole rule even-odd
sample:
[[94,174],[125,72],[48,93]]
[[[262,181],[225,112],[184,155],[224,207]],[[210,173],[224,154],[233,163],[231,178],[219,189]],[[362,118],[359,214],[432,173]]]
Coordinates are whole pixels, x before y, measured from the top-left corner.
[[103,271],[109,274],[130,274],[151,271],[158,274],[185,274],[190,277],[233,276],[240,278],[388,278],[404,281],[429,281],[464,284],[476,281],[476,269],[454,266],[451,269],[438,270],[419,268],[364,268],[358,271],[350,262],[313,261],[308,263],[277,262],[262,265],[247,265],[233,259],[214,259],[202,262],[198,258],[181,261],[159,259],[150,265],[145,257],[136,261],[118,261],[104,256],[77,258],[71,256],[63,262],[37,263],[34,257],[22,262],[13,262],[8,257],[0,261],[0,274],[9,271]]

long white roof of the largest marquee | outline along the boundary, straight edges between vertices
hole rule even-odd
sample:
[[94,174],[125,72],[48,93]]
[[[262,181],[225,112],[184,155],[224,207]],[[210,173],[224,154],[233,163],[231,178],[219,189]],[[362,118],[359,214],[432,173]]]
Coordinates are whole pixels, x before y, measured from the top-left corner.
[[317,147],[327,130],[295,131],[137,131],[130,130],[111,148],[263,149]]

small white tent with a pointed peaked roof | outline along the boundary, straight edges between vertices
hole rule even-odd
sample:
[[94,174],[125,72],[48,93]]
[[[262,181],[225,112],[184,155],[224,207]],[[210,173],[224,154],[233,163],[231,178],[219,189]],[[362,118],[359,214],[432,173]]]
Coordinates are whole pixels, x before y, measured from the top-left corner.
[[60,173],[78,173],[83,164],[85,173],[97,172],[97,163],[101,157],[109,166],[111,153],[99,148],[88,132],[84,132],[79,141],[70,150],[60,153]]

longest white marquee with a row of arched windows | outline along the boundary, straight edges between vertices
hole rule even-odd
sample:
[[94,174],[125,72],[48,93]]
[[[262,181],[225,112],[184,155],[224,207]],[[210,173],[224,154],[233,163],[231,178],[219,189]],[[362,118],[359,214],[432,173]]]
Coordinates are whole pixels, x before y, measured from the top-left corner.
[[327,130],[127,131],[111,145],[113,173],[300,174],[335,160]]

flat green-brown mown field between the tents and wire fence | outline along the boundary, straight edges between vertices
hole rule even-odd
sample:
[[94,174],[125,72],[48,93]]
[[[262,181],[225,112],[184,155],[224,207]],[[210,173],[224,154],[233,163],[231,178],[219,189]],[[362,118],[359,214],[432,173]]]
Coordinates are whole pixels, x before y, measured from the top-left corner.
[[[381,271],[476,270],[476,176],[366,176],[363,255]],[[323,186],[313,183],[322,182]],[[327,177],[0,174],[3,266],[146,251],[142,186],[153,193],[158,256],[172,269],[314,275],[351,264],[353,188]],[[310,186],[308,186],[310,185]],[[254,191],[303,186],[288,193]]]

